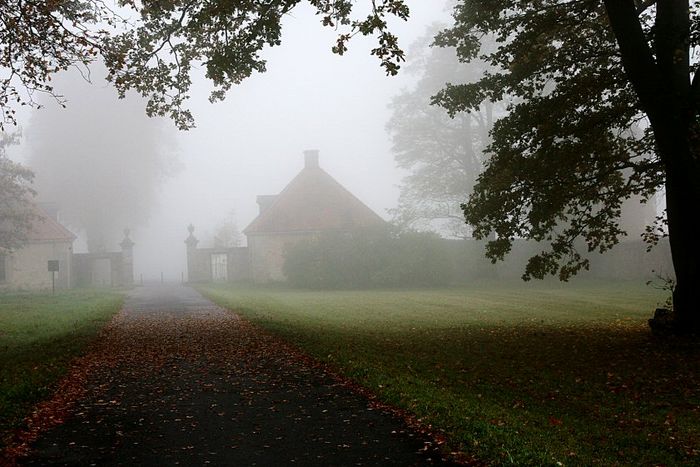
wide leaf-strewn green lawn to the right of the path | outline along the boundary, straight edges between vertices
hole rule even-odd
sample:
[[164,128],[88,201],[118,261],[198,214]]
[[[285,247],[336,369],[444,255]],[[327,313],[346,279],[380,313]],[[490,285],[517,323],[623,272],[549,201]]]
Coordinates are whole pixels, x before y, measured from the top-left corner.
[[644,284],[200,290],[483,461],[700,463],[700,349],[650,336]]

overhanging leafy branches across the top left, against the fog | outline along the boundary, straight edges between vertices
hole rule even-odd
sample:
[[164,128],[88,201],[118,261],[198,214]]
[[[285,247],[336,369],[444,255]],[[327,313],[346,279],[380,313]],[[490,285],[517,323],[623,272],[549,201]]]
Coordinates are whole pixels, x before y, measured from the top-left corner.
[[[352,36],[376,36],[372,49],[388,74],[404,59],[387,17],[408,17],[404,0],[372,0],[363,18],[353,0],[306,0],[323,26],[338,27],[333,52],[347,51]],[[302,0],[118,0],[124,17],[102,0],[0,2],[0,125],[15,123],[14,106],[40,107],[37,93],[63,103],[53,74],[85,68],[102,55],[119,95],[135,89],[147,97],[148,115],[168,115],[180,128],[194,120],[184,107],[193,67],[213,85],[211,101],[254,72],[264,72],[265,47],[281,44],[282,18]]]

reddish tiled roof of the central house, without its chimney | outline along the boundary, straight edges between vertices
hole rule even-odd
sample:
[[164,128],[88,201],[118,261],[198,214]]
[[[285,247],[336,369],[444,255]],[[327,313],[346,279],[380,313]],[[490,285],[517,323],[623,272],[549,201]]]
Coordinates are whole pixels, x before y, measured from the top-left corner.
[[381,217],[327,172],[307,165],[243,232],[343,231],[382,224]]

